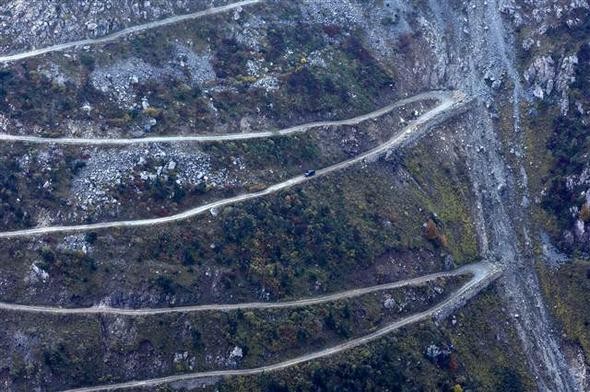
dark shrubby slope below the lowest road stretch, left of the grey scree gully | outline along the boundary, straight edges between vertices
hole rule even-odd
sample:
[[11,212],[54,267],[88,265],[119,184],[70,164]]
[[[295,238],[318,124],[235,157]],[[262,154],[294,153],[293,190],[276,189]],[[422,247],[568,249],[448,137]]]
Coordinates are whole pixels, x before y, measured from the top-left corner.
[[[413,325],[334,357],[255,378],[228,378],[211,390],[534,390],[510,325],[498,293],[491,289],[462,309],[454,322],[445,321],[441,327]],[[442,353],[429,358],[430,345]]]

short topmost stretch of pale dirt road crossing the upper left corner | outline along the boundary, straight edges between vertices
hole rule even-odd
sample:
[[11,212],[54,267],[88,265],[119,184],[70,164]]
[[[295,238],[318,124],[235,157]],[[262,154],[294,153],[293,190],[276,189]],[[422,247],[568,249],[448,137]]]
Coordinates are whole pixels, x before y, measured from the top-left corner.
[[238,9],[240,7],[258,4],[261,1],[263,1],[263,0],[238,1],[236,3],[227,4],[227,5],[220,6],[220,7],[212,7],[212,8],[208,8],[206,10],[203,10],[203,11],[193,12],[191,14],[172,16],[170,18],[155,20],[153,22],[148,22],[148,23],[137,25],[137,26],[128,27],[126,29],[123,29],[123,30],[117,31],[115,33],[105,35],[105,36],[99,37],[99,38],[89,38],[89,39],[83,39],[80,41],[66,42],[63,44],[52,45],[52,46],[48,46],[45,48],[28,50],[28,51],[22,52],[22,53],[15,53],[15,54],[9,54],[9,55],[5,55],[5,56],[0,56],[0,63],[8,63],[8,62],[12,62],[12,61],[24,60],[24,59],[31,58],[31,57],[41,56],[41,55],[47,54],[47,53],[61,52],[61,51],[67,50],[67,49],[77,48],[77,47],[81,47],[81,46],[92,46],[92,45],[105,44],[108,42],[118,40],[119,38],[122,38],[127,35],[140,33],[142,31],[151,30],[151,29],[155,29],[158,27],[168,26],[171,24],[179,23],[179,22],[184,22],[187,20],[198,19],[198,18],[202,18],[202,17],[208,16],[208,15],[215,15],[215,14],[224,13],[227,11]]

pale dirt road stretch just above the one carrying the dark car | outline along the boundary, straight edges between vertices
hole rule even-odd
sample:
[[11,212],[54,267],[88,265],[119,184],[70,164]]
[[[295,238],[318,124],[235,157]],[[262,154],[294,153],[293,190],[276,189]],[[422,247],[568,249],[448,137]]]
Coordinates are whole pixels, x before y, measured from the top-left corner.
[[337,127],[343,125],[357,125],[363,121],[377,118],[402,106],[425,101],[428,99],[443,100],[449,96],[447,91],[428,91],[409,98],[399,100],[391,105],[363,114],[357,117],[337,121],[318,121],[307,124],[296,125],[276,131],[232,133],[226,135],[194,135],[194,136],[154,136],[142,138],[75,138],[75,137],[38,137],[27,135],[9,135],[0,133],[0,141],[21,142],[30,144],[73,144],[73,145],[128,145],[147,143],[186,143],[186,142],[223,142],[235,140],[260,139],[273,136],[288,136],[296,133],[304,133],[313,128]]

